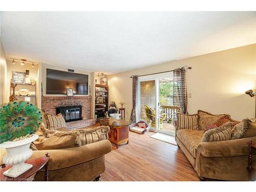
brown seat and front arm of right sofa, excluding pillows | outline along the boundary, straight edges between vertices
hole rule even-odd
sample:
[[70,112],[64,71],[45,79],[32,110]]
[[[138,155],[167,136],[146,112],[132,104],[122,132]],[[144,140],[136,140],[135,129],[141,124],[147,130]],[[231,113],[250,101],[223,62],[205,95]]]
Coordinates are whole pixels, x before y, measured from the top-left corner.
[[[200,129],[200,127],[199,127]],[[176,130],[176,142],[196,170],[200,180],[248,181],[248,145],[256,137],[201,142],[204,131]],[[252,156],[256,166],[256,153]]]

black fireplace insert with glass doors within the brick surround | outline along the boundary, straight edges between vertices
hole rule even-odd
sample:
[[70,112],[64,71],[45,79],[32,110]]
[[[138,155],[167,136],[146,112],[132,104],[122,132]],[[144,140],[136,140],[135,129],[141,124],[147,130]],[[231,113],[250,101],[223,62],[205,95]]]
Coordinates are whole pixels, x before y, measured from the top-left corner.
[[59,106],[56,108],[56,115],[61,113],[66,122],[82,120],[82,106]]

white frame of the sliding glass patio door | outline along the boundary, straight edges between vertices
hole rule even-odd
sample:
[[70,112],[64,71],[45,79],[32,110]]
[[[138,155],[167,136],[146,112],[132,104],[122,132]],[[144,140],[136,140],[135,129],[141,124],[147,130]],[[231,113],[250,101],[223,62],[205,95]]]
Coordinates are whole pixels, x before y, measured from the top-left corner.
[[173,135],[171,132],[166,132],[158,129],[159,127],[159,110],[160,110],[160,103],[159,103],[159,79],[161,78],[169,78],[173,77],[173,72],[166,72],[166,73],[159,73],[154,75],[147,75],[147,76],[140,76],[138,78],[138,98],[137,98],[137,107],[136,107],[136,119],[140,119],[140,82],[141,81],[150,81],[155,80],[155,99],[156,99],[156,128],[151,127],[151,131],[156,131],[159,133],[164,133],[167,135]]

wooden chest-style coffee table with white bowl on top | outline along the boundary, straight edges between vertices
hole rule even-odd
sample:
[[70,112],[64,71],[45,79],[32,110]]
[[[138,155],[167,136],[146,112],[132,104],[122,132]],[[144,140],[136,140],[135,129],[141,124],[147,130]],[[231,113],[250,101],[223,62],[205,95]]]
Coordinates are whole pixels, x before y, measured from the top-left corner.
[[100,119],[99,122],[101,125],[110,126],[109,140],[116,144],[116,148],[121,143],[129,143],[129,125],[132,124],[131,120],[111,117]]

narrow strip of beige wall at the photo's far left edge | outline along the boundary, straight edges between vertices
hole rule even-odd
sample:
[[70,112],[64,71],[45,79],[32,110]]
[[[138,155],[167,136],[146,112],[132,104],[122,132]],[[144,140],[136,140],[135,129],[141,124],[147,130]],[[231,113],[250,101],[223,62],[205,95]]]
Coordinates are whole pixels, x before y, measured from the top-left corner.
[[6,54],[0,38],[0,104],[8,102],[6,98],[6,79],[7,79],[7,66],[6,66]]

